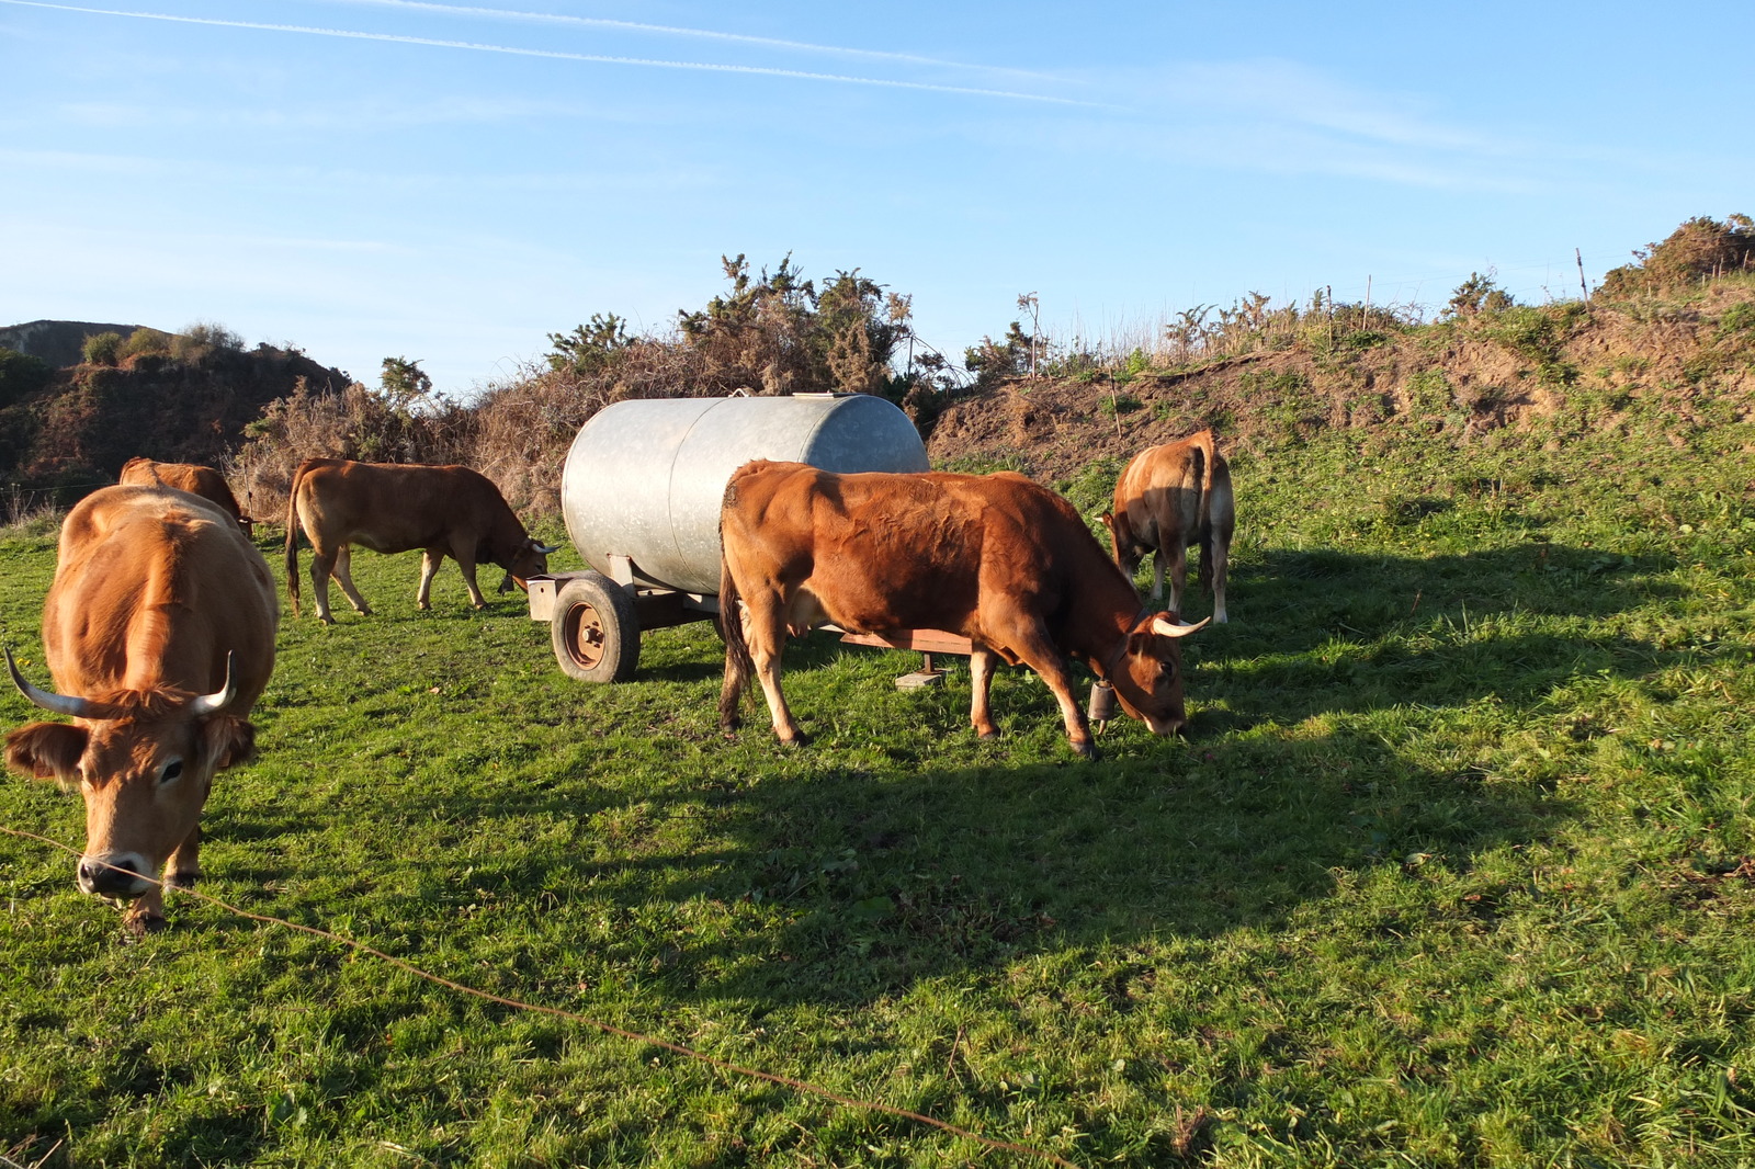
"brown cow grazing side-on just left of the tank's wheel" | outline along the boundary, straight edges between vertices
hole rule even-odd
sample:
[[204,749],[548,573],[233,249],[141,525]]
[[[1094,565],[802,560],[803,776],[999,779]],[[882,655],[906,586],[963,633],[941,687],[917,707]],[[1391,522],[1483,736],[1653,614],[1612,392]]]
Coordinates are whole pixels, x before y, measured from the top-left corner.
[[500,488],[469,467],[421,463],[355,463],[346,458],[307,458],[293,472],[286,495],[286,592],[298,613],[298,528],[311,541],[311,592],[318,620],[333,625],[328,607],[330,574],[360,613],[372,607],[353,586],[351,544],[381,553],[423,549],[416,604],[425,609],[439,563],[451,556],[463,570],[469,599],[486,607],[476,586],[476,563],[505,569],[500,592],[548,572],[551,546],[537,544],[512,513]]

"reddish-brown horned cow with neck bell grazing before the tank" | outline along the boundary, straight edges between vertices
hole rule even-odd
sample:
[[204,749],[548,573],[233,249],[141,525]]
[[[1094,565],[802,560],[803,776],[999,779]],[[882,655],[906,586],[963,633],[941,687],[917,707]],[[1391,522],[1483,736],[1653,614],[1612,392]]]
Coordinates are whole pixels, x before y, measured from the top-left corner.
[[1095,755],[1071,658],[1114,685],[1153,734],[1185,723],[1178,639],[1206,625],[1143,609],[1072,507],[1018,474],[830,474],[746,463],[720,516],[720,721],[737,725],[751,669],[781,742],[806,735],[779,688],[781,646],[830,621],[849,632],[942,628],[974,644],[969,721],[999,734],[988,683],[1028,665],[1060,702],[1067,737]]

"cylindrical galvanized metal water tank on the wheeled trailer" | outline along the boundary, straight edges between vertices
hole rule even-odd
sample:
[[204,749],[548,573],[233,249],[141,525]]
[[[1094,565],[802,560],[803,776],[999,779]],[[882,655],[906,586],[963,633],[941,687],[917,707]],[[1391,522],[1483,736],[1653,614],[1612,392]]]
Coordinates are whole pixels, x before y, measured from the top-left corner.
[[716,593],[720,502],[753,458],[842,474],[928,467],[907,414],[863,393],[616,402],[567,451],[567,535],[605,576],[611,556],[628,556],[639,584]]

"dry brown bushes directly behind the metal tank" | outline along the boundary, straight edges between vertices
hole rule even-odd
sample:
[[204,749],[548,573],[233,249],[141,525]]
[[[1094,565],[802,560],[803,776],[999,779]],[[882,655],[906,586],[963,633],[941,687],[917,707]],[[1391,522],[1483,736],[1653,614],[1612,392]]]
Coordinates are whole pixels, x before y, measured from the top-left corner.
[[469,407],[421,395],[411,404],[425,377],[400,358],[386,358],[383,391],[353,384],[328,395],[300,383],[249,427],[228,467],[233,491],[253,516],[274,518],[305,458],[455,462],[493,479],[514,509],[555,514],[579,428],[627,398],[842,390],[928,414],[923,388],[937,384],[942,360],[920,355],[921,372],[890,374],[897,346],[913,342],[906,297],[886,297],[856,269],[818,291],[790,256],[772,274],[751,276],[742,256],[723,265],[732,288],[702,312],[679,312],[674,330],[630,337],[621,318],[597,314],[572,333],[549,333],[542,363],[484,386]]

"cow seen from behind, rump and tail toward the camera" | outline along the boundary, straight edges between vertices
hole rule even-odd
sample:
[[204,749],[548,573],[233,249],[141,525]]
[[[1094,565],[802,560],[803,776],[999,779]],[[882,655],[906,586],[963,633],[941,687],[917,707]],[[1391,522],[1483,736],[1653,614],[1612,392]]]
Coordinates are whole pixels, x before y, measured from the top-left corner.
[[1153,446],[1134,456],[1114,484],[1114,511],[1102,514],[1114,544],[1114,562],[1134,577],[1148,551],[1151,597],[1164,599],[1169,560],[1171,609],[1181,611],[1188,581],[1188,546],[1200,546],[1200,584],[1213,593],[1213,623],[1225,623],[1225,565],[1237,506],[1230,493],[1230,465],[1218,453],[1211,430],[1181,442]]

